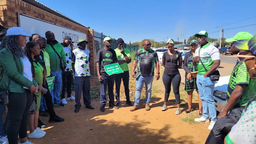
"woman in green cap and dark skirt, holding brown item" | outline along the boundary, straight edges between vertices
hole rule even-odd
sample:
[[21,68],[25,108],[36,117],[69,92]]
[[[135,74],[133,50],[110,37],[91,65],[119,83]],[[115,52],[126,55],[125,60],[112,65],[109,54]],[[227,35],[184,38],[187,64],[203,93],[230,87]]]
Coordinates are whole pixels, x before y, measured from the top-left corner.
[[197,75],[197,68],[193,66],[193,58],[195,56],[195,51],[197,49],[197,40],[190,41],[190,48],[191,51],[187,52],[184,57],[184,64],[183,69],[186,71],[185,74],[185,90],[187,91],[187,104],[188,109],[185,111],[186,113],[190,113],[192,110],[192,95],[194,89],[197,91],[198,96],[198,104],[199,104],[199,115],[203,115],[203,106],[202,100],[199,97],[199,92],[196,83],[196,75]]

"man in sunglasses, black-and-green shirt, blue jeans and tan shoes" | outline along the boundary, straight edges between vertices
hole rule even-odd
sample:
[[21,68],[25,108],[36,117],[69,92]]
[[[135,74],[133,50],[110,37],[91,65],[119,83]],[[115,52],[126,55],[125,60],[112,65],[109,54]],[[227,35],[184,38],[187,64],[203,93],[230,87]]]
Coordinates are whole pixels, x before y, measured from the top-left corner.
[[152,83],[154,79],[154,71],[155,71],[155,64],[156,64],[156,80],[159,79],[159,62],[158,62],[158,56],[157,53],[150,48],[151,43],[148,40],[143,41],[143,48],[139,49],[139,51],[136,53],[132,65],[132,77],[136,77],[136,74],[134,72],[135,68],[138,64],[138,73],[139,76],[136,78],[136,91],[135,91],[135,99],[134,99],[134,105],[131,107],[130,111],[135,111],[139,109],[139,101],[141,96],[141,90],[143,88],[143,85],[145,83],[146,86],[146,98],[145,98],[145,110],[150,110],[150,99],[151,99],[151,89],[152,89]]

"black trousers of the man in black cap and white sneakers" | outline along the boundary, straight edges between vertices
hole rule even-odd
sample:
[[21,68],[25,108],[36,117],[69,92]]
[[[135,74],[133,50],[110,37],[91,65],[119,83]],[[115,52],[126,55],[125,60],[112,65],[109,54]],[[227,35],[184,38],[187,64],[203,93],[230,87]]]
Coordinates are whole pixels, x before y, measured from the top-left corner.
[[71,97],[72,82],[73,82],[73,74],[70,71],[66,71],[64,74],[62,74],[61,99],[65,99],[66,88],[67,88],[68,98]]

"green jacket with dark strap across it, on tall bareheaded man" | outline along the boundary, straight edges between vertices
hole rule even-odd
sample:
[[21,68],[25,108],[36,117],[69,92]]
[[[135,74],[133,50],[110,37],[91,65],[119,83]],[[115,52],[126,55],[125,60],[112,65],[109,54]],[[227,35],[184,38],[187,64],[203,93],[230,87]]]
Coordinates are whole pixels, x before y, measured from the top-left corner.
[[49,54],[49,57],[50,57],[50,68],[51,68],[51,71],[61,70],[60,59],[59,59],[58,55],[54,52],[52,47],[54,47],[56,52],[62,58],[64,67],[67,67],[66,56],[65,56],[65,53],[64,53],[62,45],[60,43],[58,43],[56,40],[53,43],[53,45],[51,45],[47,41],[47,46],[45,47],[45,51]]

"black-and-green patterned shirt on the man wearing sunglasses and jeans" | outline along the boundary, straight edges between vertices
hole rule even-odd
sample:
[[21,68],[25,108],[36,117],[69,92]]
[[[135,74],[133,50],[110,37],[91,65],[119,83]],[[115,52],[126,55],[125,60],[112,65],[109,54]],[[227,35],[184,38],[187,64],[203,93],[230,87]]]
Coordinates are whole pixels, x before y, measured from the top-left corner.
[[150,49],[148,52],[144,48],[139,49],[134,60],[138,61],[138,71],[143,76],[154,76],[155,62],[158,61],[157,53]]

